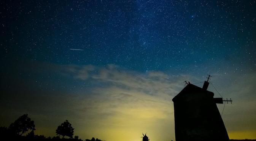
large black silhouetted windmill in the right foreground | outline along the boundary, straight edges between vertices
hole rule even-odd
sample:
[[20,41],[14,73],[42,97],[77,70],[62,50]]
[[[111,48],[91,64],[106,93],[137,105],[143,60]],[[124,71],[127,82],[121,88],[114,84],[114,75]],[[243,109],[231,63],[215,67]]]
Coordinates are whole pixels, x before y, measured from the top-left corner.
[[207,91],[208,85],[208,81],[203,88],[188,83],[172,99],[176,141],[229,140],[216,105],[223,103],[222,98],[213,98],[214,93]]

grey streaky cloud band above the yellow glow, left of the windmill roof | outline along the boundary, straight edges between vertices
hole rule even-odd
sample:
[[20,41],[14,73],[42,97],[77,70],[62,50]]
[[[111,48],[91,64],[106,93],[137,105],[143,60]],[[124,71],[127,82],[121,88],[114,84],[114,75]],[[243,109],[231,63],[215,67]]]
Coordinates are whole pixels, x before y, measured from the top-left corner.
[[[148,73],[140,73],[137,71],[126,70],[116,65],[107,65],[106,67],[83,66],[74,73],[74,78],[86,81],[93,79],[94,81],[105,82],[126,90],[135,90],[149,95],[172,95],[182,86],[180,85],[185,77],[182,75],[167,75],[161,71],[149,71]],[[177,84],[178,82],[178,84]],[[177,89],[178,88],[178,89]]]

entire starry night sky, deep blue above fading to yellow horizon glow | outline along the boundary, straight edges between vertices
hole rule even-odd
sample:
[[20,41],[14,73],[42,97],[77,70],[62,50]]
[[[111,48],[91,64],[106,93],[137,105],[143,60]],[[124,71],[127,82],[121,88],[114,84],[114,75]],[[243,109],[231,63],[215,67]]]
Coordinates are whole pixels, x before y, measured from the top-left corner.
[[68,119],[82,139],[175,140],[172,98],[211,74],[229,138],[256,138],[256,0],[0,6],[0,126],[28,113],[39,135]]

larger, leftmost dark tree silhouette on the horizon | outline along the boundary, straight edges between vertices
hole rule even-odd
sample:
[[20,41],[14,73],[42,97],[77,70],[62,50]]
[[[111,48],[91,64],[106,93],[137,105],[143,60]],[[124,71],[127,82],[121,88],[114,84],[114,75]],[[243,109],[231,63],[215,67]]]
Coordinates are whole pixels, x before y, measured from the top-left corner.
[[20,116],[16,121],[10,124],[11,132],[22,135],[28,130],[35,130],[34,121],[32,121],[27,114]]

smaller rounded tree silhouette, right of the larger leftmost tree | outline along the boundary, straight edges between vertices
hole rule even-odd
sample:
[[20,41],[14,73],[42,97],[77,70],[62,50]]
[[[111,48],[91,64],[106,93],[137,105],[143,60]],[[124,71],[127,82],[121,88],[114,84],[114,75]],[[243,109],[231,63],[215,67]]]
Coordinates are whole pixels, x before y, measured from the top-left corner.
[[56,129],[56,135],[68,136],[69,138],[73,138],[74,129],[68,120],[64,121],[58,128]]

